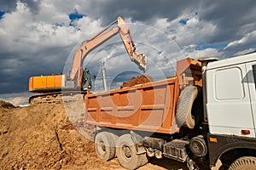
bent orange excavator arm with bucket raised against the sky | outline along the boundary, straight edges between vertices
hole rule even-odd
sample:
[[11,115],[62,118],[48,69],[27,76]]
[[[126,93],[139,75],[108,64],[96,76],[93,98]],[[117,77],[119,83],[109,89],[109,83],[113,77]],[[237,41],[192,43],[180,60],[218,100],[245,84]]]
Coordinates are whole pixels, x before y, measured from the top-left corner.
[[[113,27],[108,31],[110,26],[118,23],[118,26]],[[146,70],[147,57],[145,54],[137,54],[135,44],[131,37],[131,32],[128,26],[126,26],[125,21],[119,17],[111,25],[105,27],[102,31],[96,34],[96,36],[90,38],[89,40],[82,42],[81,46],[76,50],[73,55],[73,65],[70,71],[69,79],[71,81],[76,81],[78,87],[81,87],[81,81],[83,77],[83,63],[87,54],[93,49],[99,47],[103,42],[107,42],[110,38],[114,37],[119,33],[127,53],[131,61],[135,62],[139,68],[143,71]]]

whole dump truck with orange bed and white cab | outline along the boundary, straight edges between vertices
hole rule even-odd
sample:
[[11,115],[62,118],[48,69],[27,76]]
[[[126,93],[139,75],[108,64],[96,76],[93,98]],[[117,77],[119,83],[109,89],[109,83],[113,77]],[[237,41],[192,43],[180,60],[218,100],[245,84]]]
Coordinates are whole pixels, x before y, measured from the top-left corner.
[[[148,157],[212,169],[256,169],[256,53],[182,59],[176,76],[87,94],[96,154],[136,169]],[[171,167],[170,167],[171,168]]]

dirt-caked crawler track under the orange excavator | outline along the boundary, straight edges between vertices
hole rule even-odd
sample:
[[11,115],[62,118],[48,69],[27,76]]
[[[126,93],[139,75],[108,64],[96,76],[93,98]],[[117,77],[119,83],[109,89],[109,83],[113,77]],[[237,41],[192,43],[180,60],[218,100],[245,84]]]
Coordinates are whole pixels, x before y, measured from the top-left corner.
[[63,102],[73,102],[84,99],[86,92],[55,92],[49,94],[38,94],[29,98],[30,105],[37,104],[60,104]]

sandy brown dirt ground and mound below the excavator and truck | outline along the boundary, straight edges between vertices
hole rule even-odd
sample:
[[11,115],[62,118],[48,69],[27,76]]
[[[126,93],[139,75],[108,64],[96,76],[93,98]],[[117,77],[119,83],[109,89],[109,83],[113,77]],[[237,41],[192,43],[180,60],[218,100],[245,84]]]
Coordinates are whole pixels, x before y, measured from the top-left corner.
[[[0,169],[123,169],[117,158],[96,156],[90,139],[94,127],[84,126],[83,111],[78,102],[15,108],[1,101]],[[187,167],[155,158],[139,169]]]

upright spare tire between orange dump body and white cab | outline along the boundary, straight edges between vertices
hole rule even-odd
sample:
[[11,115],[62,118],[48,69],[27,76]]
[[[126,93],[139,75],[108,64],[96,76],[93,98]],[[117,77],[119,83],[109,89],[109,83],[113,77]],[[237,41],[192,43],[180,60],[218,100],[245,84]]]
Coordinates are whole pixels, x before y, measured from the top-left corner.
[[[177,101],[177,114],[176,114],[176,121],[179,127],[195,127],[195,116],[192,115],[192,107],[194,101],[198,95],[198,89],[195,86],[188,86],[183,89],[180,94],[180,97]],[[201,115],[198,114],[199,116]],[[197,116],[196,118],[199,118]],[[196,121],[199,123],[199,121]]]

